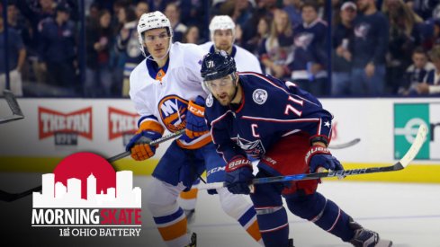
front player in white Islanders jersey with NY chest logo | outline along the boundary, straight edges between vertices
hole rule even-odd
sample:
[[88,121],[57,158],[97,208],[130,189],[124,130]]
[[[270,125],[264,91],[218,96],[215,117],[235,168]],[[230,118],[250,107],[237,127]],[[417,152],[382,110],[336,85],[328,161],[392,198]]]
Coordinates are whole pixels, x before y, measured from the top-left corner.
[[[195,246],[195,234],[187,233],[184,210],[176,198],[189,190],[202,172],[209,182],[224,181],[224,161],[216,153],[203,118],[200,75],[202,49],[193,44],[173,43],[173,31],[163,13],[144,13],[138,24],[139,42],[144,59],[130,75],[130,99],[140,115],[139,130],[126,149],[131,157],[143,161],[156,152],[157,146],[145,144],[162,137],[165,130],[185,129],[167,148],[148,185],[148,210],[167,246]],[[202,96],[202,97],[200,97]],[[241,195],[226,189],[216,190],[223,210],[238,220],[256,242],[261,235],[254,207]]]

